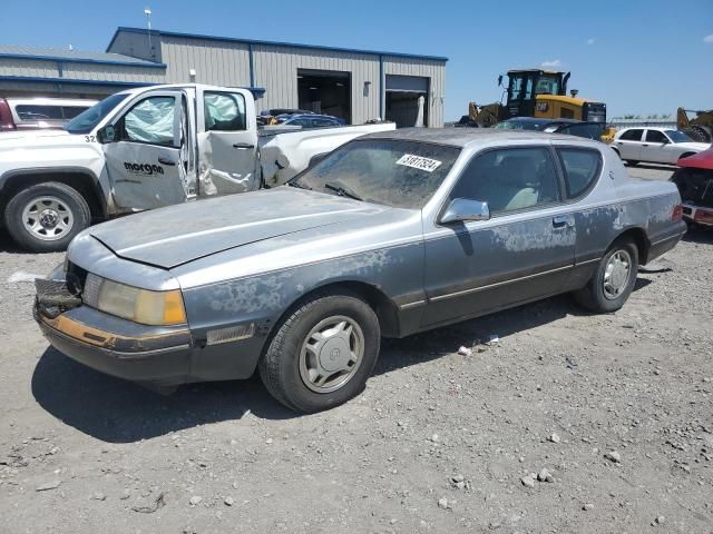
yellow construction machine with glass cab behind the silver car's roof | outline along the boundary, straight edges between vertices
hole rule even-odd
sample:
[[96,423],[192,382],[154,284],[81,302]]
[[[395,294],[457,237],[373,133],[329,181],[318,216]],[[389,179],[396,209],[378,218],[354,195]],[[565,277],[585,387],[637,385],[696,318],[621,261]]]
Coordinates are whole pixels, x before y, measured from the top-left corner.
[[[539,69],[508,71],[505,103],[478,106],[470,102],[468,116],[460,126],[489,128],[512,117],[577,119],[606,123],[606,103],[578,97],[573,89],[567,95],[569,72]],[[498,77],[502,87],[502,76]]]

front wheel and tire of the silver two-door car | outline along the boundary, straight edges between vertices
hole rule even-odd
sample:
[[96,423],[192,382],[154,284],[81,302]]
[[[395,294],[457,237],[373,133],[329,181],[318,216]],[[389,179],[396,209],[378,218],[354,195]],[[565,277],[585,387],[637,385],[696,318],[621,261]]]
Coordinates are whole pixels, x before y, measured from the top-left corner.
[[275,328],[258,370],[280,403],[315,413],[364,388],[377,364],[381,332],[377,314],[356,295],[315,294]]

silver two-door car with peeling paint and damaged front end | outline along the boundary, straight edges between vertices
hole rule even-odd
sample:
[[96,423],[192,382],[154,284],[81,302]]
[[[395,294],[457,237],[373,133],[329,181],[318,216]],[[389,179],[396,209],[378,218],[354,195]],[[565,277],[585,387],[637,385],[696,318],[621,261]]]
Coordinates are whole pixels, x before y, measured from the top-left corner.
[[380,339],[556,294],[618,309],[685,224],[673,184],[597,141],[408,129],[364,136],[289,185],[91,227],[38,280],[57,349],[159,385],[260,370],[284,405],[356,395]]

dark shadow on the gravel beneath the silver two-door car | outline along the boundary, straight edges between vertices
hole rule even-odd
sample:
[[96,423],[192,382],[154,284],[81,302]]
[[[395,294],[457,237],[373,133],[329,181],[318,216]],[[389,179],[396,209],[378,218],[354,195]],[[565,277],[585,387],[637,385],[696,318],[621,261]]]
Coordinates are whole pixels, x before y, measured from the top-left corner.
[[[635,289],[649,284],[639,278]],[[429,362],[487,340],[586,315],[569,296],[558,296],[507,312],[467,320],[404,339],[384,339],[375,375]],[[32,394],[47,412],[78,431],[110,443],[131,443],[174,431],[257,417],[297,417],[274,400],[255,375],[248,380],[193,384],[164,396],[139,385],[95,372],[51,347],[32,376]]]

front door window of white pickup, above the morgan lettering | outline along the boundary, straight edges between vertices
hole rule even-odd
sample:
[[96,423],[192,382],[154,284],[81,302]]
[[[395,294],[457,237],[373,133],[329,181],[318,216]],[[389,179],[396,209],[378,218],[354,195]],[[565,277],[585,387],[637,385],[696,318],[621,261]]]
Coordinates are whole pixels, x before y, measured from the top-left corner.
[[176,99],[148,97],[136,103],[123,118],[121,141],[177,146],[174,130]]

